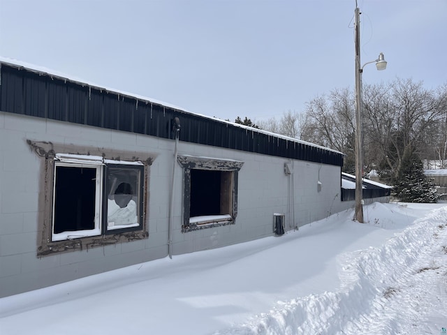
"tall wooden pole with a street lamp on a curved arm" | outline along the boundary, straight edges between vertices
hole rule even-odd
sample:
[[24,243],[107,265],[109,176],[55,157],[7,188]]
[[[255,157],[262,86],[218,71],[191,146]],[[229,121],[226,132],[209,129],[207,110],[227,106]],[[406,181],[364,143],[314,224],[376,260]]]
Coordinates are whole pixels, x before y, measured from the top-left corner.
[[[357,2],[357,1],[356,1]],[[363,171],[363,143],[362,143],[362,72],[367,64],[376,63],[377,70],[386,69],[383,53],[375,61],[368,61],[360,67],[360,10],[356,7],[355,44],[356,44],[356,220],[363,223],[362,207],[362,171]]]

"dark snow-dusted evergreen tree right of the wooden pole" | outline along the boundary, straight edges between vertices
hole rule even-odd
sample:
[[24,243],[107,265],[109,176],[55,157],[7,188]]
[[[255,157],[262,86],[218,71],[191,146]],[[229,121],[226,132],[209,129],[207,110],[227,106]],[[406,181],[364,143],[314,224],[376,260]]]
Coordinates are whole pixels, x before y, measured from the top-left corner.
[[404,202],[437,202],[436,188],[427,180],[423,163],[410,146],[402,156],[402,163],[397,171],[393,195]]

